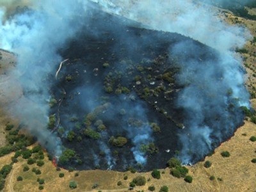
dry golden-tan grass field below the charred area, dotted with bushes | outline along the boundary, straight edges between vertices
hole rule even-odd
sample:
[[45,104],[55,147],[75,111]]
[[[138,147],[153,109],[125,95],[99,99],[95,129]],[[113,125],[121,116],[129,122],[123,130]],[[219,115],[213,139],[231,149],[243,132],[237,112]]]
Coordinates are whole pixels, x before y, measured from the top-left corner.
[[[246,134],[246,135],[245,135]],[[19,163],[14,164],[12,172],[7,177],[6,187],[4,191],[38,191],[37,178],[45,179],[44,191],[70,191],[69,182],[75,180],[77,188],[72,191],[93,191],[93,184],[99,184],[99,187],[94,191],[127,191],[129,182],[136,175],[144,175],[147,181],[146,186],[136,187],[134,191],[147,191],[148,186],[154,185],[156,191],[161,186],[166,185],[170,191],[255,191],[256,190],[256,164],[251,160],[256,158],[256,143],[249,140],[251,136],[256,136],[256,125],[251,122],[237,129],[234,136],[218,148],[211,157],[206,157],[206,160],[212,162],[210,168],[204,167],[204,162],[188,166],[189,175],[193,177],[191,184],[186,183],[183,179],[177,179],[170,175],[170,169],[161,170],[161,179],[154,179],[150,172],[147,173],[131,173],[131,172],[114,172],[114,171],[80,171],[79,176],[75,177],[74,172],[68,172],[61,169],[56,171],[56,167],[51,161],[47,160],[45,154],[45,164],[41,168],[36,164],[29,165],[30,170],[23,172],[22,168],[26,161],[19,157]],[[230,152],[230,157],[222,157],[221,152],[227,150]],[[10,157],[13,154],[0,158],[1,164],[10,163]],[[32,168],[40,168],[42,174],[35,175],[31,172]],[[58,174],[65,173],[63,178],[58,177]],[[17,181],[18,176],[22,176],[24,180]],[[124,175],[128,176],[124,180]],[[215,180],[210,180],[209,177],[214,175]],[[222,181],[217,178],[220,177]],[[117,182],[121,180],[122,185],[117,186]]]

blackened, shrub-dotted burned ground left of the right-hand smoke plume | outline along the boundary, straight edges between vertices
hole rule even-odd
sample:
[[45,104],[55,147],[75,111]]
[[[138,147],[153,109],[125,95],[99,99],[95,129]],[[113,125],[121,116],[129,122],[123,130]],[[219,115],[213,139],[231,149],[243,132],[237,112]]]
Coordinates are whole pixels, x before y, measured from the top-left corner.
[[[51,88],[52,97],[58,100],[51,114],[58,116],[60,111],[56,131],[63,145],[77,154],[62,166],[81,170],[164,168],[166,161],[182,147],[177,134],[181,133],[185,118],[182,109],[175,107],[182,87],[175,83],[179,60],[170,55],[169,49],[191,39],[139,28],[140,24],[97,9],[87,14],[83,30],[60,50],[63,60],[69,60],[58,74],[58,83]],[[202,63],[209,58],[215,60],[211,48],[195,44],[204,47],[200,53]],[[54,75],[51,81],[55,81]],[[91,125],[86,125],[86,116],[92,113],[95,118]],[[97,120],[102,120],[105,131],[97,129]],[[146,151],[147,163],[141,166],[134,160],[131,151],[134,143],[127,127],[141,129],[141,125],[150,123],[161,129],[152,132],[150,140],[158,151]],[[93,140],[86,136],[86,128],[99,132],[101,138]],[[70,131],[75,132],[72,141],[67,139]],[[124,136],[128,142],[123,147],[114,147],[109,143],[111,136]],[[199,160],[196,156],[195,159]]]

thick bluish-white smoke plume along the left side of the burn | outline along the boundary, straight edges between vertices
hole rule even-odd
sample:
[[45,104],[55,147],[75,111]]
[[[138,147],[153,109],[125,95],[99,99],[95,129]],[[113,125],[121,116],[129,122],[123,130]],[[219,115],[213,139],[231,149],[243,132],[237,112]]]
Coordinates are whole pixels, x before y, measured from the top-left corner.
[[79,14],[86,12],[86,1],[22,1],[20,3],[31,3],[35,9],[24,10],[5,20],[4,15],[12,3],[17,1],[0,3],[0,47],[17,54],[17,66],[10,76],[19,81],[24,93],[8,108],[42,145],[58,156],[60,141],[47,130],[51,84],[47,75],[61,61],[58,49],[81,27],[83,21]]

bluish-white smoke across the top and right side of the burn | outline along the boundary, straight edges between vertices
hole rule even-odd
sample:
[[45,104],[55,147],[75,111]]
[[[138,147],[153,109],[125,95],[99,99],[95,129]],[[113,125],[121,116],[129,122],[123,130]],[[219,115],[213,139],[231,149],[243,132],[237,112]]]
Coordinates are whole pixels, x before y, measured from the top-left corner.
[[193,163],[203,158],[231,136],[243,119],[231,108],[250,106],[241,59],[234,53],[237,47],[243,47],[250,33],[220,20],[219,12],[207,4],[187,0],[109,2],[108,6],[102,4],[109,12],[143,22],[151,29],[189,36],[217,50],[209,56],[192,41],[170,47],[170,54],[180,60],[177,81],[185,86],[177,100],[186,114],[186,128],[180,134],[180,159]]

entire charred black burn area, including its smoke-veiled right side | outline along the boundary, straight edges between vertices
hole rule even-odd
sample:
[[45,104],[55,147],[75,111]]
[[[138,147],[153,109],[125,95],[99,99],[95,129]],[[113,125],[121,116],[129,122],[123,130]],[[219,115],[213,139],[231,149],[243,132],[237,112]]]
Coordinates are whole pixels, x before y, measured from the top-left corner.
[[[243,114],[228,86],[221,87],[220,95],[198,93],[199,98],[220,101],[206,104],[212,113],[205,113],[200,122],[202,132],[211,127],[209,140],[198,129],[189,128],[193,110],[179,104],[180,97],[189,99],[182,92],[193,84],[180,81],[180,71],[188,70],[191,61],[203,70],[209,63],[220,62],[214,49],[99,10],[87,14],[83,30],[60,49],[63,60],[68,60],[49,76],[56,83],[50,90],[48,126],[65,146],[58,159],[60,166],[152,170],[164,168],[173,156],[189,156],[184,163],[195,163],[241,125]],[[177,54],[172,47],[180,43],[188,47]],[[214,70],[209,78],[225,84],[223,73]],[[216,99],[222,94],[225,102]]]

